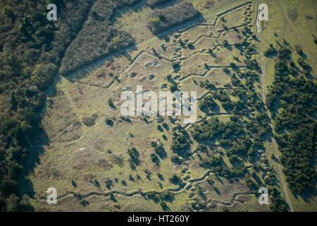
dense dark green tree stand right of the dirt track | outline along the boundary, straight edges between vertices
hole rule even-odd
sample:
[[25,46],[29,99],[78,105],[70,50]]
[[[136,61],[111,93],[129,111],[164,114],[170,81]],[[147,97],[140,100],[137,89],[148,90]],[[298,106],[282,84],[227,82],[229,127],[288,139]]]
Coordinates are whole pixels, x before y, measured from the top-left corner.
[[299,59],[304,71],[293,70],[292,50],[287,44],[280,46],[278,57],[267,102],[276,114],[276,141],[287,182],[293,192],[302,193],[316,183],[316,85],[306,76],[310,67],[304,59]]

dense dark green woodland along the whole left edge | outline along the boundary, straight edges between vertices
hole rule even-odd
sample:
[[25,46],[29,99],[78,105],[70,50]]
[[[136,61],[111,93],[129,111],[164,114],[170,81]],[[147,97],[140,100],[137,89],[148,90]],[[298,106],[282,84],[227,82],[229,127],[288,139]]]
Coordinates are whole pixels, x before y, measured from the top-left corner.
[[[4,97],[1,100],[6,100],[0,114],[0,209],[4,211],[31,209],[23,196],[24,188],[18,182],[23,181],[29,170],[23,166],[34,149],[32,144],[38,145],[39,135],[43,133],[40,122],[44,91],[53,83],[66,47],[82,29],[94,3],[92,0],[52,2],[58,5],[56,22],[46,20],[46,1],[5,0],[0,3],[1,10],[4,9],[4,13],[0,13],[0,95]],[[135,1],[106,2],[115,2],[112,7]],[[112,14],[105,13],[109,17]],[[85,35],[85,29],[82,34]],[[116,30],[111,33],[115,37],[118,34],[121,33]],[[120,41],[117,47],[125,42],[125,35]],[[108,44],[108,40],[106,42]],[[79,44],[85,48],[85,43],[75,42],[72,46],[76,49]],[[87,57],[78,49],[75,52]],[[73,54],[69,56],[73,57]],[[76,57],[72,60],[81,63]]]

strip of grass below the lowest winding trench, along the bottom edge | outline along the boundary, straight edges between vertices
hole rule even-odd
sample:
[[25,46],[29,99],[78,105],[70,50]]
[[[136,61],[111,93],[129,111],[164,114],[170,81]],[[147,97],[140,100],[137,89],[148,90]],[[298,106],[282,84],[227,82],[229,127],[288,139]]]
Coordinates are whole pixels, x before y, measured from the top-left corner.
[[[232,186],[235,186],[233,190]],[[228,184],[228,182],[224,182],[224,185],[220,184],[220,186],[218,186],[217,191],[214,191],[212,187],[208,186],[207,189],[211,190],[208,196],[221,200],[211,200],[208,206],[206,206],[207,211],[223,211],[225,207],[232,211],[266,211],[263,206],[259,205],[258,199],[255,196],[239,195],[241,189],[244,189],[241,187],[241,184]],[[237,193],[235,193],[235,191],[237,191]],[[223,196],[224,194],[225,196]],[[192,206],[193,201],[188,198],[188,196],[193,195],[195,195],[193,191],[175,194],[175,200],[167,203],[168,210],[192,210],[189,206]],[[42,203],[39,203],[39,205],[41,206],[41,210],[44,211],[162,211],[161,205],[138,195],[132,197],[116,195],[116,201],[111,200],[109,196],[92,195],[85,198],[85,201],[89,203],[85,208],[83,208],[78,199],[74,197],[61,199],[56,206],[48,206],[44,201],[41,201]],[[196,208],[199,210],[199,206],[196,206]]]

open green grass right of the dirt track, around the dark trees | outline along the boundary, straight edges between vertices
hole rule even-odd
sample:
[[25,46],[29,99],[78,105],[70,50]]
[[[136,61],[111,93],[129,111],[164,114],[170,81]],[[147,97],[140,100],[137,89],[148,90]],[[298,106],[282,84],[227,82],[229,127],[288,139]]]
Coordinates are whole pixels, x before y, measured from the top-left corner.
[[[306,61],[309,63],[315,77],[317,70],[317,45],[314,37],[317,37],[317,1],[266,1],[269,8],[269,20],[262,23],[261,33],[263,49],[266,50],[269,44],[277,46],[276,42],[282,43],[283,39],[290,42],[292,47],[302,48],[306,54]],[[299,55],[293,51],[294,59]],[[266,87],[271,85],[274,76],[275,62],[271,58],[265,58]],[[268,90],[266,90],[267,92]],[[293,196],[289,190],[291,202],[295,211],[316,211],[317,198]]]

